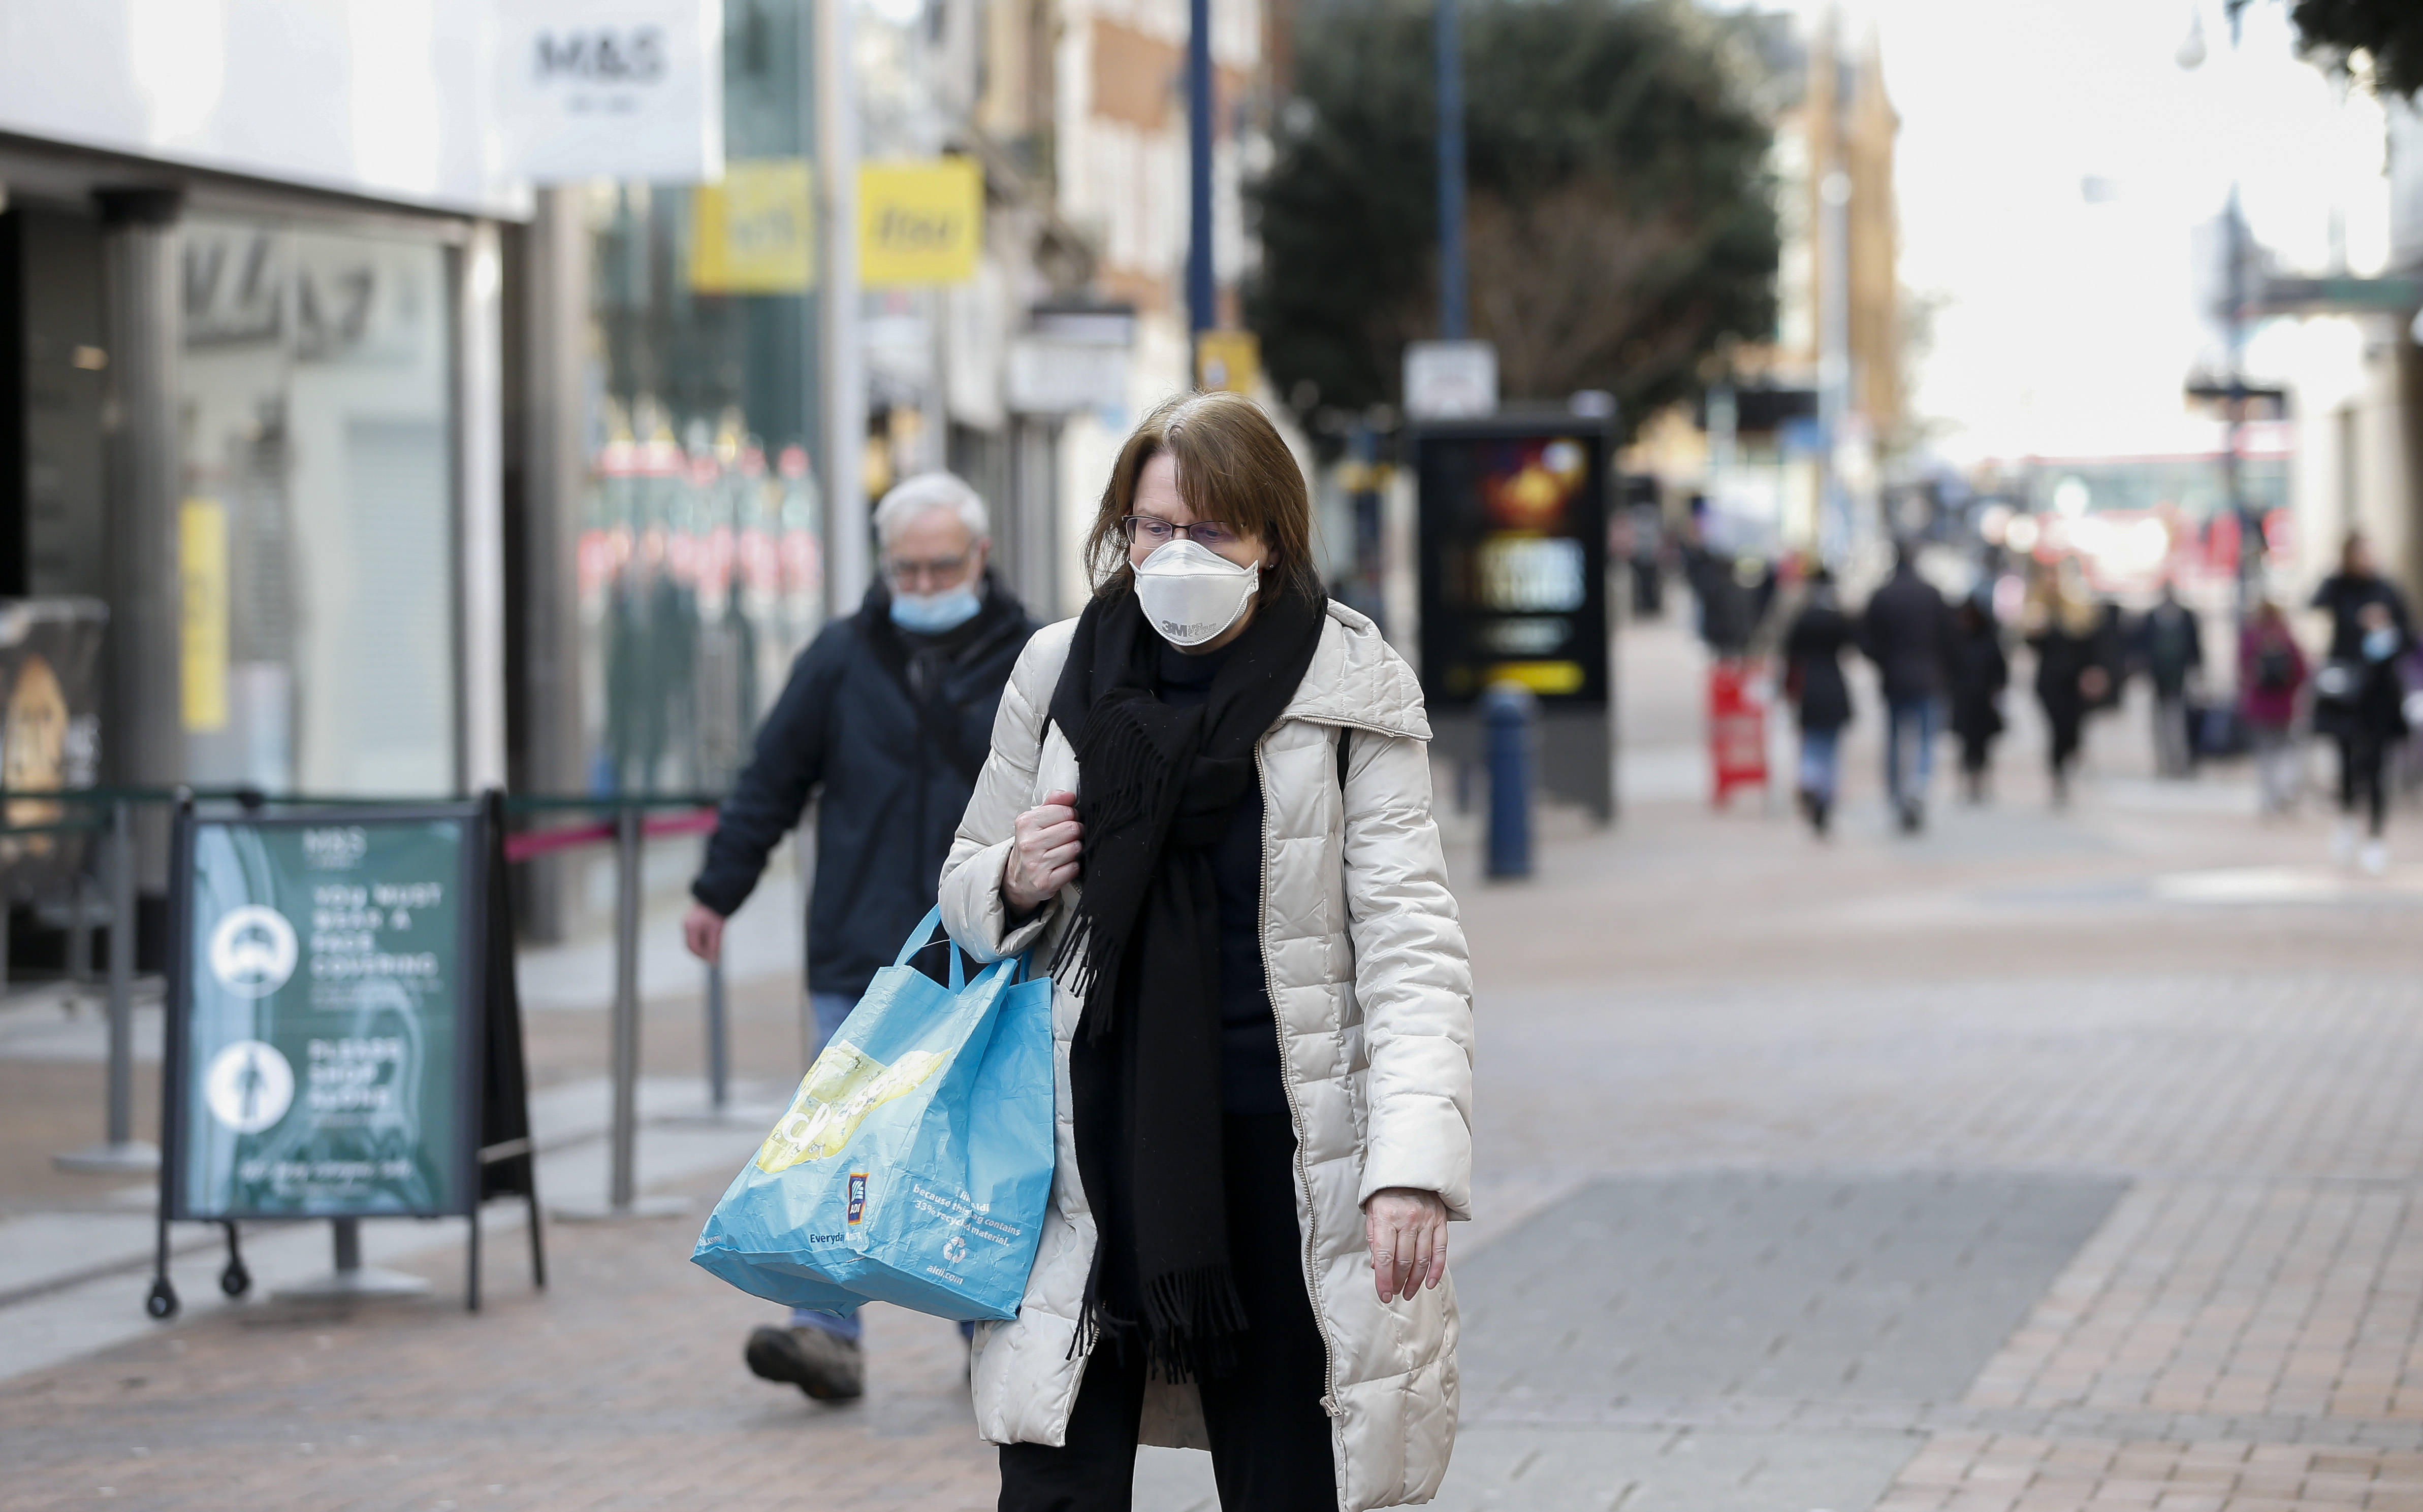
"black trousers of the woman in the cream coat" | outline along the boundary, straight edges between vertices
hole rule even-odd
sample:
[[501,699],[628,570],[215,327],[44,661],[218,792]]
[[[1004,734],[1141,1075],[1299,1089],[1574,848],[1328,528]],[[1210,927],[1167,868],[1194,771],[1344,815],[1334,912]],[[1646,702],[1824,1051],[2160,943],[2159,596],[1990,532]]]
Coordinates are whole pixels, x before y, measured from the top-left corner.
[[[1212,1476],[1226,1512],[1335,1512],[1328,1354],[1304,1292],[1296,1134],[1284,1112],[1221,1119],[1228,1265],[1245,1304],[1233,1371],[1202,1381]],[[1001,1447],[1001,1512],[1129,1512],[1141,1350],[1102,1342],[1069,1415],[1069,1442]]]

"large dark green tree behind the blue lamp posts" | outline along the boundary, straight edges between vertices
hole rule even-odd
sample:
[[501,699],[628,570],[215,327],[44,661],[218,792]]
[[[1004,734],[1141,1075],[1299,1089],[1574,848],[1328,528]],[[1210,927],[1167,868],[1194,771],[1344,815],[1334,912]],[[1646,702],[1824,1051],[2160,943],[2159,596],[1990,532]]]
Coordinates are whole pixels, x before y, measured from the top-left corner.
[[[1742,22],[1686,0],[1468,0],[1473,334],[1507,397],[1689,397],[1728,337],[1774,332],[1771,126]],[[1398,397],[1437,334],[1430,0],[1308,0],[1296,92],[1253,187],[1245,310],[1279,393]]]

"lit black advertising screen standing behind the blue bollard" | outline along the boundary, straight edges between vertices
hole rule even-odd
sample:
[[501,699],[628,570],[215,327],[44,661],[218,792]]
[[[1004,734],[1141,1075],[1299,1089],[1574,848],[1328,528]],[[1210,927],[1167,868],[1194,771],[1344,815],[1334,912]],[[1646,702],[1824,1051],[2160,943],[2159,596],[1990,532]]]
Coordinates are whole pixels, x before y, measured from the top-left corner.
[[1606,703],[1606,434],[1497,419],[1422,431],[1422,693],[1514,681],[1548,705]]

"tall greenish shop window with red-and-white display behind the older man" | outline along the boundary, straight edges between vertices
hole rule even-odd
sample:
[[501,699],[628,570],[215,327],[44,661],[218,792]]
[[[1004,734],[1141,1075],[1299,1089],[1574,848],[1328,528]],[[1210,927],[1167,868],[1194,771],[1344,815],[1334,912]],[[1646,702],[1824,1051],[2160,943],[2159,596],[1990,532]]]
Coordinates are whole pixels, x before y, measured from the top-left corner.
[[594,790],[722,790],[824,620],[800,0],[727,10],[722,184],[594,184]]

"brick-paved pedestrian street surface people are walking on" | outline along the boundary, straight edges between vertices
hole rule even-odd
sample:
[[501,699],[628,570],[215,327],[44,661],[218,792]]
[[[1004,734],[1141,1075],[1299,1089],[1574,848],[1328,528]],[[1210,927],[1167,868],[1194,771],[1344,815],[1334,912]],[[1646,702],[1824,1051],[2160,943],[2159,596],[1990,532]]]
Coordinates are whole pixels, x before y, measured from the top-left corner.
[[[2018,700],[1997,802],[1938,780],[1902,838],[1868,686],[1834,841],[1718,814],[1694,657],[1626,642],[1619,826],[1548,814],[1493,887],[1451,817],[1478,1214],[1437,1505],[2423,1510],[2423,867],[2336,872],[2326,819],[2258,824],[2236,771],[2154,783],[2135,708],[2055,812]],[[2413,812],[2392,846],[2423,858]],[[749,991],[780,1025],[787,989]],[[686,1255],[754,1139],[652,1124],[642,1168],[698,1207],[552,1224],[545,1294],[502,1236],[480,1316],[436,1245],[422,1301],[194,1306],[19,1369],[0,1507],[989,1507],[947,1323],[870,1308],[855,1405],[741,1369],[775,1308]],[[1214,1507],[1207,1459],[1146,1451],[1136,1505]]]

